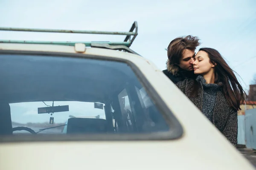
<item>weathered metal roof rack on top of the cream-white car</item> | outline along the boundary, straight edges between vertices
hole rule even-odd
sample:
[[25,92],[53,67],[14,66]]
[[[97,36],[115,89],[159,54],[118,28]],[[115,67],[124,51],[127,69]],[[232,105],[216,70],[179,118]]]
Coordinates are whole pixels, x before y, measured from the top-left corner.
[[[71,42],[71,41],[23,41],[23,40],[0,40],[0,43],[23,43],[23,44],[55,44],[55,45],[71,45],[76,43],[84,43],[87,47],[108,48],[119,51],[126,51],[137,54],[129,47],[138,35],[137,21],[131,26],[129,32],[113,32],[113,31],[83,31],[83,30],[60,30],[60,29],[37,29],[37,28],[8,28],[0,27],[0,31],[29,31],[29,32],[58,32],[58,33],[77,33],[77,34],[109,34],[109,35],[126,35],[123,42],[109,41],[88,41],[88,42]],[[131,37],[132,36],[132,37]],[[138,54],[139,55],[139,54]]]

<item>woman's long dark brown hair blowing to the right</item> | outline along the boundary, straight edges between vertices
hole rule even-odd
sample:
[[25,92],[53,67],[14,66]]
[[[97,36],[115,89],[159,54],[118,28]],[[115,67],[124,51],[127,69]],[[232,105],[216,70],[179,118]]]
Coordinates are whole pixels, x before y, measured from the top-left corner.
[[[210,62],[212,64],[216,64],[214,83],[223,84],[223,93],[228,105],[236,111],[241,110],[240,104],[245,101],[245,92],[234,74],[235,71],[233,71],[230,66],[227,65],[227,62],[217,50],[213,48],[200,48],[199,51],[206,52]],[[195,83],[192,94],[196,94],[198,88],[198,84]]]

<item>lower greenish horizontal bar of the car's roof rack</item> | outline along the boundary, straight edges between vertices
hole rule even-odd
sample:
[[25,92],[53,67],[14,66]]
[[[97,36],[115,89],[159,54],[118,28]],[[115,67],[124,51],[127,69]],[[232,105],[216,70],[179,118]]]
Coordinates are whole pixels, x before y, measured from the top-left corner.
[[125,45],[129,46],[129,42],[110,42],[110,41],[89,41],[89,42],[72,42],[72,41],[22,41],[22,40],[0,40],[0,43],[19,43],[19,44],[55,44],[55,45],[70,45],[74,46],[75,43],[83,43],[87,47],[91,44],[108,44],[108,45]]

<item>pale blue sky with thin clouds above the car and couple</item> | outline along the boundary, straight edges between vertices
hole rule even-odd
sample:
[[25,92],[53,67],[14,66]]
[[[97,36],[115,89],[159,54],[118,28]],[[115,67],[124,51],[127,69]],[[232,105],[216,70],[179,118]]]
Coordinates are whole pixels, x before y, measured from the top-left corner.
[[[175,37],[192,34],[200,47],[217,49],[248,88],[256,73],[255,0],[1,0],[0,26],[128,31],[138,22],[131,49],[166,68],[165,48]],[[0,31],[0,39],[123,41],[124,36]]]

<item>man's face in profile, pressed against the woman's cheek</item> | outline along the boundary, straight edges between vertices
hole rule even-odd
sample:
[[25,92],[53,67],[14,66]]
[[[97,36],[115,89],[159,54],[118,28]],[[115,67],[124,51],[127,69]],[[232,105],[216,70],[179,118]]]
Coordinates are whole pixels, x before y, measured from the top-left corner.
[[184,50],[183,56],[180,59],[180,68],[186,71],[193,71],[193,62],[195,57],[195,51],[190,51],[188,49]]

